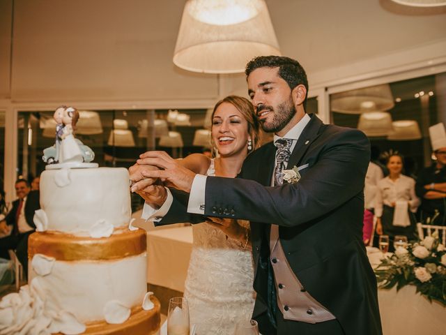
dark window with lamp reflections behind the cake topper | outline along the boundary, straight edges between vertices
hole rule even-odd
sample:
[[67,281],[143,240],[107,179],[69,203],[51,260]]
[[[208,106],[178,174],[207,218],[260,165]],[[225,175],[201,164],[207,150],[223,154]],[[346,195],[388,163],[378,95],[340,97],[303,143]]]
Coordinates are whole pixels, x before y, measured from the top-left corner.
[[[17,177],[32,180],[45,170],[43,149],[56,140],[53,114],[19,112]],[[203,129],[205,116],[206,110],[79,110],[75,135],[93,149],[100,167],[130,168],[147,150],[164,150],[175,158],[203,151],[203,141],[194,143],[194,135]],[[3,141],[4,121],[0,129]]]

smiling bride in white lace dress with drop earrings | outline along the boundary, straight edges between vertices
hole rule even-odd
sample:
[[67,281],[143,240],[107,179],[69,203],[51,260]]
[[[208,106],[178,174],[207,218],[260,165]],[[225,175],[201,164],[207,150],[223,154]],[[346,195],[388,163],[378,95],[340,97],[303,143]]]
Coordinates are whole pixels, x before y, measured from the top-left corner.
[[[219,157],[192,154],[178,161],[210,176],[236,177],[258,142],[252,103],[239,96],[219,101],[212,114],[212,142]],[[194,242],[185,281],[190,322],[203,334],[233,334],[254,308],[254,270],[247,221],[206,222],[192,226]],[[201,333],[200,333],[201,334]]]

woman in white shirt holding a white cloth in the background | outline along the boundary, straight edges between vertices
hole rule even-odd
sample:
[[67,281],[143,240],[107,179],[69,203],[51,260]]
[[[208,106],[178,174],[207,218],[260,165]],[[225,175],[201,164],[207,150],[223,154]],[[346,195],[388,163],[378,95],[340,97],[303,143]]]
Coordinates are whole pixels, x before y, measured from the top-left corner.
[[415,239],[413,214],[420,206],[420,198],[415,195],[415,180],[401,173],[403,157],[400,154],[390,154],[387,158],[387,169],[389,175],[378,181],[375,203],[376,233],[389,235],[392,249],[396,235]]

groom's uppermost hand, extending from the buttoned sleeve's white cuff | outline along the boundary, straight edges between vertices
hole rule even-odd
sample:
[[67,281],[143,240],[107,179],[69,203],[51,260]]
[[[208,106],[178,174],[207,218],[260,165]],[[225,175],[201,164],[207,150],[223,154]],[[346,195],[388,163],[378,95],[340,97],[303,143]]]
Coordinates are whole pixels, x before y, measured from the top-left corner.
[[165,186],[176,188],[180,191],[190,192],[195,173],[176,163],[164,151],[147,151],[139,156],[138,165],[155,165],[163,170],[141,170],[144,178],[160,178]]

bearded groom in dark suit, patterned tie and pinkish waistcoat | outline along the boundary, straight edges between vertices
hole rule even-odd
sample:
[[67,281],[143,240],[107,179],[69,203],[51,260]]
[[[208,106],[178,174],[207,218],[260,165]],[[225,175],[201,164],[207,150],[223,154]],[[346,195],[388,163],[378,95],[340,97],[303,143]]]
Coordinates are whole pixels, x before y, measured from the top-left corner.
[[[257,57],[245,73],[256,115],[275,143],[250,154],[237,179],[194,174],[157,151],[142,154],[130,179],[146,199],[144,218],[155,211],[148,204],[164,202],[153,214],[160,225],[202,216],[251,221],[253,318],[262,334],[382,334],[362,243],[367,137],[305,113],[307,76],[298,61]],[[171,191],[151,185],[156,178]]]

